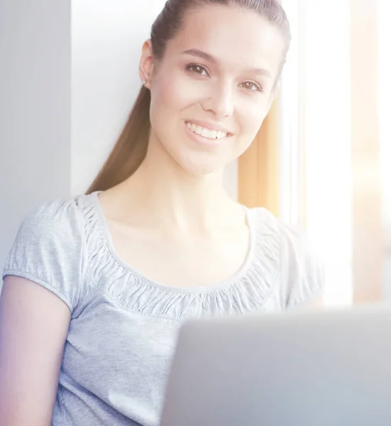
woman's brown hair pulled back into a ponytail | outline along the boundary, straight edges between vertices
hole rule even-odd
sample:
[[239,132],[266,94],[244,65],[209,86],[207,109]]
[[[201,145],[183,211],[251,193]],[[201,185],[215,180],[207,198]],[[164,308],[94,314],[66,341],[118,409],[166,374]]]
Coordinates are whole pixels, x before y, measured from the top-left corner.
[[[282,55],[282,68],[285,65],[287,52],[290,48],[290,24],[278,0],[168,0],[163,11],[153,23],[150,40],[153,48],[153,58],[158,64],[167,48],[167,43],[175,38],[182,28],[182,22],[188,11],[194,11],[199,6],[221,4],[223,6],[238,6],[253,10],[263,16],[268,22],[279,27],[285,38],[285,51]],[[97,190],[108,190],[123,182],[136,172],[143,163],[147,153],[150,136],[150,91],[141,87],[131,114],[128,117],[116,145],[111,151],[97,178],[87,190],[87,194]]]

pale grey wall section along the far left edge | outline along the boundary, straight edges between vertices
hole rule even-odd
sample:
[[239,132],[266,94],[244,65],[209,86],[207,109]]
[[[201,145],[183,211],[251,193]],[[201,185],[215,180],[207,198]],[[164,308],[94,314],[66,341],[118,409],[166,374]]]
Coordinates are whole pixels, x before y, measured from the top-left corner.
[[26,212],[70,195],[69,2],[1,0],[0,60],[2,271]]

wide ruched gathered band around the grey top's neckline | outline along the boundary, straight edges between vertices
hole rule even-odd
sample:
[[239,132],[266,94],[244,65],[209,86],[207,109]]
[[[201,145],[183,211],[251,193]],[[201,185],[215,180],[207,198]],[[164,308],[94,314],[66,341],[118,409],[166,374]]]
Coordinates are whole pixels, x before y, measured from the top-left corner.
[[263,208],[248,209],[248,255],[232,278],[214,285],[175,288],[150,280],[116,253],[99,202],[99,191],[77,199],[84,216],[89,268],[94,280],[130,310],[180,319],[244,314],[265,305],[280,272],[280,233],[275,217]]

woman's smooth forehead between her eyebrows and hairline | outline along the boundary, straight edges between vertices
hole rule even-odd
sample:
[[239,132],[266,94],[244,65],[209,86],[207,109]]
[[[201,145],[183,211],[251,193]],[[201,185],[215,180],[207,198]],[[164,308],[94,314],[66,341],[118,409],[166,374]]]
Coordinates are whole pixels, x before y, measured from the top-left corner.
[[255,11],[208,5],[187,13],[167,53],[192,48],[213,55],[223,65],[268,67],[273,75],[280,66],[284,40],[280,28]]

